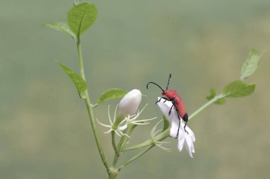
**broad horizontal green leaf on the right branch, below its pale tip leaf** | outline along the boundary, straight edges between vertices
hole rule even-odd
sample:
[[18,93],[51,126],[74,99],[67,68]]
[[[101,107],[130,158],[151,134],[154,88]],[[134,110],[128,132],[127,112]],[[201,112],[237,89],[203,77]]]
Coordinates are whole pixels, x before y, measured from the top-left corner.
[[233,81],[225,86],[223,95],[229,98],[249,96],[254,92],[255,86],[255,84],[248,84],[243,81]]

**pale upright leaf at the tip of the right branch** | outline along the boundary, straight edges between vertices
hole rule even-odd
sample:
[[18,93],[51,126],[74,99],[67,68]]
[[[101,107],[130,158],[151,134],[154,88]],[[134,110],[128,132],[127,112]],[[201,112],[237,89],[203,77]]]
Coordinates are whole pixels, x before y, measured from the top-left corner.
[[251,76],[259,67],[259,61],[261,59],[261,54],[258,54],[256,50],[249,52],[249,57],[244,62],[241,70],[240,79],[244,80]]

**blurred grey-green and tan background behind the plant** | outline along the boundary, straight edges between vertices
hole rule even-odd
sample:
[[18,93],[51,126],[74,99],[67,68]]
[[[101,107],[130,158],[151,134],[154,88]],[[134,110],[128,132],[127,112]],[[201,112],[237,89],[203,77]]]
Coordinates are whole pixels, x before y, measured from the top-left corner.
[[[90,2],[90,1],[88,1]],[[157,116],[158,88],[180,93],[191,114],[212,87],[221,91],[239,78],[252,48],[266,50],[252,96],[212,105],[188,125],[197,137],[195,155],[155,148],[121,171],[119,178],[269,178],[270,1],[92,1],[97,22],[82,35],[92,101],[107,88],[139,88],[148,97],[142,117]],[[67,0],[1,0],[0,178],[107,178],[85,104],[56,60],[78,71],[75,43],[41,28],[65,21]],[[95,109],[107,122],[107,105]],[[155,123],[141,127],[132,144],[148,139]],[[109,135],[99,128],[104,152]],[[129,158],[134,154],[122,157]],[[112,158],[108,158],[111,161]]]

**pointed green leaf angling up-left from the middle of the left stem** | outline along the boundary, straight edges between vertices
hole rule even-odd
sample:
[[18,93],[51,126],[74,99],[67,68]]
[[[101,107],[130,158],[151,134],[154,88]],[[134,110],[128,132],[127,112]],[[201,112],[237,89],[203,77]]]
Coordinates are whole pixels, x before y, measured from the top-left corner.
[[63,71],[65,71],[65,74],[68,74],[68,76],[70,76],[70,79],[73,81],[77,88],[80,98],[85,99],[85,91],[87,89],[87,84],[85,83],[85,80],[83,80],[80,75],[76,74],[68,67],[65,67],[63,64],[60,64],[59,62],[58,64],[63,69]]

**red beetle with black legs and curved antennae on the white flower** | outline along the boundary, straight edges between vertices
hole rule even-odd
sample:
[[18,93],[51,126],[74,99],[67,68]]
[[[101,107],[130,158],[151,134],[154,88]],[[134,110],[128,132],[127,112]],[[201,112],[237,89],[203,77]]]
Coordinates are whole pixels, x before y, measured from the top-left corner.
[[[148,85],[150,83],[153,83],[156,86],[158,86],[159,88],[161,88],[161,90],[162,90],[161,95],[166,96],[166,97],[162,97],[163,99],[165,99],[164,103],[166,102],[166,100],[170,100],[171,103],[173,103],[173,105],[171,106],[170,111],[168,112],[168,115],[171,115],[171,110],[172,110],[172,108],[174,106],[175,110],[177,112],[177,115],[178,115],[178,119],[180,120],[180,118],[182,118],[184,120],[185,126],[186,126],[187,122],[188,122],[188,112],[185,109],[185,105],[183,103],[183,100],[178,95],[178,93],[176,91],[173,91],[173,90],[168,90],[168,85],[170,83],[170,79],[171,79],[171,74],[169,74],[169,76],[168,76],[168,83],[167,83],[166,90],[163,90],[163,88],[161,88],[161,86],[159,86],[157,83],[154,83],[154,82],[148,82],[147,85],[146,85],[146,88],[148,89]],[[161,101],[161,99],[159,99],[156,103],[158,103],[160,101]],[[181,122],[181,120],[180,120],[180,122]],[[179,131],[179,127],[180,127],[180,122],[179,122],[179,126],[178,126],[178,131]],[[185,127],[184,127],[184,129],[185,129]],[[187,131],[185,130],[185,132],[187,132]],[[177,133],[176,138],[177,137],[178,137],[178,133]]]

